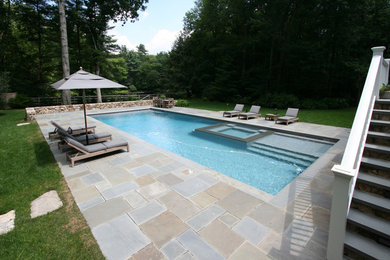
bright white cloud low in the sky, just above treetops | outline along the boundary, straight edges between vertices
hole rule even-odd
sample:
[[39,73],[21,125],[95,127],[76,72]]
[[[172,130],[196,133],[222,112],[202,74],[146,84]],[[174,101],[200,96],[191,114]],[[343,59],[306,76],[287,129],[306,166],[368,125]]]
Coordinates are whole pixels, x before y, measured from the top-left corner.
[[170,51],[178,35],[179,31],[169,31],[166,29],[159,30],[154,35],[153,39],[145,44],[145,47],[151,54],[156,54],[161,51]]

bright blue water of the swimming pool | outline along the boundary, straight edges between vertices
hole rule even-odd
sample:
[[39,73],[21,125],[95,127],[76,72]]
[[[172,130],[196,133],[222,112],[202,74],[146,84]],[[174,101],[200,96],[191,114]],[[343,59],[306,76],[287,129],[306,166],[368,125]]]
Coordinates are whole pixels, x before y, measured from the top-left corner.
[[220,121],[155,110],[94,118],[272,195],[332,145],[277,133],[245,143],[195,131]]

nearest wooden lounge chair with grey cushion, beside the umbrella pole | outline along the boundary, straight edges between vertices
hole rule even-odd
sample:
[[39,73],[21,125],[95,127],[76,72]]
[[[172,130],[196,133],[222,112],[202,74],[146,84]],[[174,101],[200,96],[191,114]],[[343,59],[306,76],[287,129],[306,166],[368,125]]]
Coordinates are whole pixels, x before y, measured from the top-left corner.
[[113,151],[118,151],[125,149],[127,152],[130,151],[129,143],[126,140],[116,139],[112,141],[106,141],[102,143],[83,145],[82,143],[65,137],[64,141],[72,148],[76,149],[76,153],[68,152],[66,154],[67,159],[72,163],[72,167],[74,167],[74,163],[79,160],[84,160],[87,158],[95,157],[98,155],[110,153]]

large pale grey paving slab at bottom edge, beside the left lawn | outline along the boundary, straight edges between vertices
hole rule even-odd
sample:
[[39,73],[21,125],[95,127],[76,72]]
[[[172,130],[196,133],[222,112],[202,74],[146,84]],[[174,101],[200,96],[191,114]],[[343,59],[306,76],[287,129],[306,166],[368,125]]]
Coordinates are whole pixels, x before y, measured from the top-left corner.
[[108,259],[127,259],[150,243],[127,215],[93,228],[92,233]]

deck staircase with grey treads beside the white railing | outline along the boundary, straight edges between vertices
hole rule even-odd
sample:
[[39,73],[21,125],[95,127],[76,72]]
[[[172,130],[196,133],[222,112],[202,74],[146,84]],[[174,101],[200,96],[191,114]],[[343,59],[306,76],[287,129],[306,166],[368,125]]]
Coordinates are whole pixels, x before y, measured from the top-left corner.
[[390,259],[390,99],[371,117],[344,240],[345,259]]

